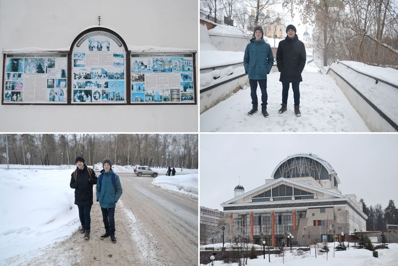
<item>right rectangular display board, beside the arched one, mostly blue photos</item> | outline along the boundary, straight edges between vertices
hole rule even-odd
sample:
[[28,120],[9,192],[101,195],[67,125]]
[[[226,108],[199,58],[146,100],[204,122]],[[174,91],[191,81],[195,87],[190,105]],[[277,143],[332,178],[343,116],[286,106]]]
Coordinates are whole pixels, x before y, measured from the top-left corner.
[[131,54],[131,103],[192,103],[193,54]]

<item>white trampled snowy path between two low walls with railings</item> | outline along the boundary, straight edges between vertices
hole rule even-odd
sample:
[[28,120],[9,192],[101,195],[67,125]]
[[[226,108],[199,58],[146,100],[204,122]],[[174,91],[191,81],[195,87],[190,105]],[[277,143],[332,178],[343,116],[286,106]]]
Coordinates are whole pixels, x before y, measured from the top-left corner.
[[[306,66],[307,68],[307,66]],[[309,70],[309,71],[308,71]],[[304,69],[300,83],[301,117],[293,109],[293,90],[289,90],[287,111],[279,114],[282,84],[279,72],[267,76],[269,117],[261,111],[252,116],[250,87],[220,102],[200,115],[201,132],[369,132],[365,122],[345,98],[329,75]],[[261,91],[258,87],[259,110]]]

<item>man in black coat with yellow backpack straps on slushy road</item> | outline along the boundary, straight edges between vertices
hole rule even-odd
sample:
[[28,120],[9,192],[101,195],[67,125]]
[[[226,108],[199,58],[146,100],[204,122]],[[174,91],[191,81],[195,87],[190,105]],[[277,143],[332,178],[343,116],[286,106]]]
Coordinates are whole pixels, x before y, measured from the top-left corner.
[[82,225],[80,233],[84,233],[84,239],[90,239],[90,211],[93,205],[93,185],[97,184],[97,176],[94,170],[88,168],[82,156],[75,159],[76,170],[71,174],[70,188],[75,190],[75,204],[79,209],[79,218]]

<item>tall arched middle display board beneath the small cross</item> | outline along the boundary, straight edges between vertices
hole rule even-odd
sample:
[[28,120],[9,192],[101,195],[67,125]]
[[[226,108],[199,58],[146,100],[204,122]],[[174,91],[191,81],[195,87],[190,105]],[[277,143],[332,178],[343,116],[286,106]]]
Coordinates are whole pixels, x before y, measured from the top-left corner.
[[73,104],[126,103],[126,51],[117,37],[93,31],[72,52]]

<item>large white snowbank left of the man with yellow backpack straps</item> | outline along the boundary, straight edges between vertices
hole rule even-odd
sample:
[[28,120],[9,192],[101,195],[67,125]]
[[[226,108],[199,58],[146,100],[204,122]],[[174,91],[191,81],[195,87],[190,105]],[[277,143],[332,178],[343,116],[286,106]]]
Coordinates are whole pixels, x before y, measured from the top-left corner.
[[63,241],[74,233],[78,208],[70,170],[0,169],[0,264],[17,255]]

